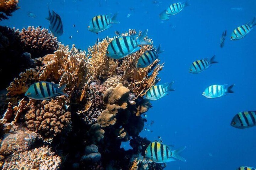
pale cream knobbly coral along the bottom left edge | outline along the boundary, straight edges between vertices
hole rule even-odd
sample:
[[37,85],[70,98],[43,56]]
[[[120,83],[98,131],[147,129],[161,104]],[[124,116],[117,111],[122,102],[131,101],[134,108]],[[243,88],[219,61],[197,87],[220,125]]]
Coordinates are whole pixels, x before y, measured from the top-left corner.
[[54,156],[54,152],[48,146],[35,148],[34,150],[22,153],[14,153],[10,160],[6,160],[3,170],[7,169],[58,169],[61,164],[61,158]]

